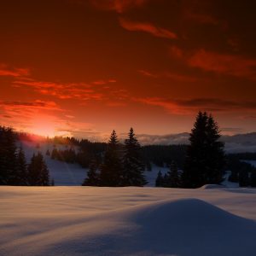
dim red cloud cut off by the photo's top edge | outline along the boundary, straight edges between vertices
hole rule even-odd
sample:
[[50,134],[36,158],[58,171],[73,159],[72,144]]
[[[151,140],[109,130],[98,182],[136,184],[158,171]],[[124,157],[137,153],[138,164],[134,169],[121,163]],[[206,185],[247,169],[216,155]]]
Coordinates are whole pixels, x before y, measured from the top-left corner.
[[148,0],[90,0],[96,8],[103,10],[113,10],[119,14],[128,9],[142,7]]

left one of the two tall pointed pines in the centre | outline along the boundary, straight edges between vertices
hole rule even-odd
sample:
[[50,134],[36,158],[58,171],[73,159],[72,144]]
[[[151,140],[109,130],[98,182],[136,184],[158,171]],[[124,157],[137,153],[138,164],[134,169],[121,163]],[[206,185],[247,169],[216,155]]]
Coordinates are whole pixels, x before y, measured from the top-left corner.
[[118,187],[121,185],[122,163],[120,160],[119,141],[113,130],[108,141],[108,148],[100,166],[100,185]]

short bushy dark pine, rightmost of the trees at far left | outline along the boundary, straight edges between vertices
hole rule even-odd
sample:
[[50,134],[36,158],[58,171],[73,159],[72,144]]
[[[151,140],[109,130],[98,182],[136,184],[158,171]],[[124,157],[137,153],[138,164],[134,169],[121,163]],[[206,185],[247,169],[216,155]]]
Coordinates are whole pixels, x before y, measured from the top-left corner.
[[27,167],[28,184],[31,186],[49,186],[49,170],[44,162],[43,154],[33,154]]

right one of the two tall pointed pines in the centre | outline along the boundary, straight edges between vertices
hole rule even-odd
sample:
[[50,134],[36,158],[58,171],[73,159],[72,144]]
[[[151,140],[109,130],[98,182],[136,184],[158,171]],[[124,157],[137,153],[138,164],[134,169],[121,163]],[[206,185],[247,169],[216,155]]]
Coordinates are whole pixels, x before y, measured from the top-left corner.
[[128,137],[125,140],[122,185],[142,187],[147,181],[143,175],[145,166],[143,165],[140,152],[141,145],[138,143],[132,128],[129,131]]

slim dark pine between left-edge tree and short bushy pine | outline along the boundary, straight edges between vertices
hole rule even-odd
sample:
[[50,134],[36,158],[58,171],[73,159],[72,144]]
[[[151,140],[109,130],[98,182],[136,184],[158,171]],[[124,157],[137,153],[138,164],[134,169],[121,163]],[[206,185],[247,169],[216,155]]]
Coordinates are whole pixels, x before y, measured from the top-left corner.
[[26,157],[23,149],[20,147],[17,155],[17,172],[16,172],[16,185],[27,185],[27,172],[26,172]]

